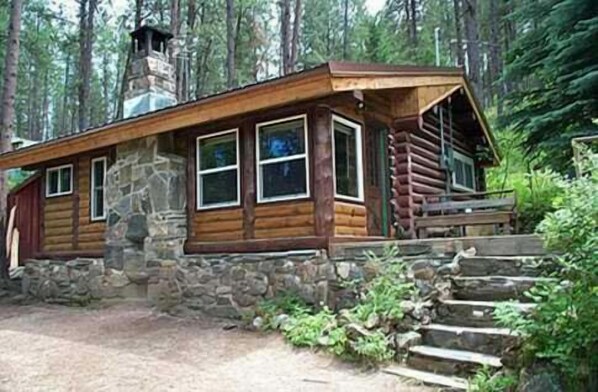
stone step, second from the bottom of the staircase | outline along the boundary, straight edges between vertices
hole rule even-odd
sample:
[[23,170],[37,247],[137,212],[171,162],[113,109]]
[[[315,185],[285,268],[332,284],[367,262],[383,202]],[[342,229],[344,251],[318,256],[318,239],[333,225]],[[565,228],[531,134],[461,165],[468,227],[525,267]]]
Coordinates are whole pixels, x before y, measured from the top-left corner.
[[432,346],[414,346],[409,349],[407,364],[417,370],[469,377],[486,366],[500,369],[502,363],[495,355]]

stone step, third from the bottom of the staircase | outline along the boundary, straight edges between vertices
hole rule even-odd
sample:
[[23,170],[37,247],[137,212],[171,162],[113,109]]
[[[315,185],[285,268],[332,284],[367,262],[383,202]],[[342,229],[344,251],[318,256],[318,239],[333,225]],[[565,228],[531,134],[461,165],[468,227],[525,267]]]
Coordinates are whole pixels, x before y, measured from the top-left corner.
[[506,328],[475,328],[444,324],[429,324],[420,328],[422,342],[427,346],[452,350],[475,351],[500,357],[517,344],[517,335]]

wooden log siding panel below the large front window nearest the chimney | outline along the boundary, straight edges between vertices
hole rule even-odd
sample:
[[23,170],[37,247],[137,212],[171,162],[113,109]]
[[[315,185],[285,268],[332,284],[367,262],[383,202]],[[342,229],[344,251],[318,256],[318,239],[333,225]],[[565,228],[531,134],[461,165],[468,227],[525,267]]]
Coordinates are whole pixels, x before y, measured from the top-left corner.
[[197,211],[188,237],[192,241],[234,241],[243,239],[243,209]]

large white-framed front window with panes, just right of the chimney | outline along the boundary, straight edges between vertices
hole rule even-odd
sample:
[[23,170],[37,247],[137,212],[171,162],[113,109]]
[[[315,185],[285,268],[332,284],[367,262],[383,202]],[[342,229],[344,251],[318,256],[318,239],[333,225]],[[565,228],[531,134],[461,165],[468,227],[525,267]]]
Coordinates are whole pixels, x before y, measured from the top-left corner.
[[240,204],[239,131],[197,138],[197,208]]

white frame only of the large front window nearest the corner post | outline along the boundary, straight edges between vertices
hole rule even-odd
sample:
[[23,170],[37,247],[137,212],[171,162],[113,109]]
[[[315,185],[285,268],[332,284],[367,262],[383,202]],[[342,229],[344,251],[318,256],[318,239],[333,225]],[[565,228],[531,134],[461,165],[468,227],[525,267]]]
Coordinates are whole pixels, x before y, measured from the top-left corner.
[[[268,125],[274,125],[279,123],[284,123],[293,120],[303,120],[303,140],[305,143],[305,152],[302,154],[295,154],[288,157],[281,157],[281,158],[270,158],[264,161],[260,160],[260,129],[263,127],[267,127]],[[300,114],[298,116],[292,117],[285,117],[280,118],[273,121],[267,121],[258,123],[255,125],[255,166],[256,166],[256,179],[257,179],[257,202],[258,204],[262,203],[272,203],[276,201],[286,201],[286,200],[296,200],[296,199],[306,199],[310,196],[310,189],[309,189],[309,139],[307,138],[307,114]],[[287,161],[296,161],[303,158],[305,163],[305,192],[304,193],[297,193],[294,195],[284,195],[284,196],[274,196],[274,197],[263,197],[263,183],[262,183],[262,171],[261,166],[267,165],[269,163],[278,163],[278,162],[287,162]]]

